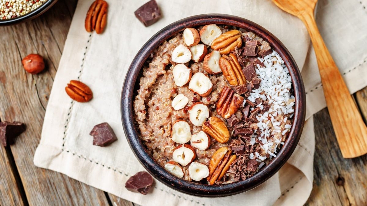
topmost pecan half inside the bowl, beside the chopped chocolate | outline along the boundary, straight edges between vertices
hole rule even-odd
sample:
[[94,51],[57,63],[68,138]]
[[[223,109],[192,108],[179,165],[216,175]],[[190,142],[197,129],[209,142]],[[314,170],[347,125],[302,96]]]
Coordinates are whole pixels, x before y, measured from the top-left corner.
[[235,51],[235,48],[242,46],[241,33],[239,30],[230,30],[211,43],[211,48],[219,51],[221,54],[229,54]]

